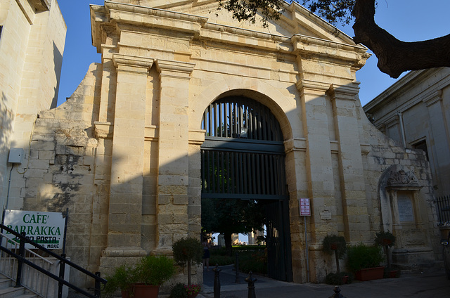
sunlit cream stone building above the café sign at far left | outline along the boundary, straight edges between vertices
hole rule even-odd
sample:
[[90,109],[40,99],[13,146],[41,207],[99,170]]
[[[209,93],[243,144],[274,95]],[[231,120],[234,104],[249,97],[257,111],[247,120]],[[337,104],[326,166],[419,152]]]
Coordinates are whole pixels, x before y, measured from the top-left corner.
[[9,149],[27,149],[39,111],[56,107],[67,28],[56,0],[1,1],[0,26],[0,194],[5,205],[11,171],[8,207],[20,209],[24,167],[11,170]]

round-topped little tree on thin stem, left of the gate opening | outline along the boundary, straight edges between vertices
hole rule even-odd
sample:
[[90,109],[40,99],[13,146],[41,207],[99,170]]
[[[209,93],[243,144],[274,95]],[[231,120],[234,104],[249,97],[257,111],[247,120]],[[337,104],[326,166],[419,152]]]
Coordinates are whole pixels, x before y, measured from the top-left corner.
[[202,263],[203,247],[200,240],[181,238],[172,245],[174,260],[181,266],[188,265],[188,285],[191,285],[191,264]]

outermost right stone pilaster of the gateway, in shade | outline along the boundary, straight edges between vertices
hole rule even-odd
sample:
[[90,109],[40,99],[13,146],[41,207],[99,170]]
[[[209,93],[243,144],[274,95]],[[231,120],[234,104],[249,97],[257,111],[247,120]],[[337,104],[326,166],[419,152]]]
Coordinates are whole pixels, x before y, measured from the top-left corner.
[[338,139],[338,162],[342,210],[347,241],[368,240],[370,224],[364,183],[364,168],[359,141],[359,125],[356,115],[354,86],[332,85],[328,91],[333,103],[335,131]]

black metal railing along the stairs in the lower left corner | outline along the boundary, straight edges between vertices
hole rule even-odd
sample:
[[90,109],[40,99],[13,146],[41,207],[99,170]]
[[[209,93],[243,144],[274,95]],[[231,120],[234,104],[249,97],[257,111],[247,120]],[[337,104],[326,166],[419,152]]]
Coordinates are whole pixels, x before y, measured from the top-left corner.
[[[70,287],[72,290],[75,290],[79,292],[80,294],[83,294],[86,297],[90,298],[99,298],[101,297],[101,284],[105,285],[107,280],[101,278],[100,273],[91,273],[87,271],[86,269],[82,268],[81,266],[78,266],[77,264],[73,263],[72,261],[69,261],[68,259],[65,259],[65,255],[59,255],[51,250],[47,250],[45,247],[37,244],[36,242],[33,242],[32,240],[29,240],[26,238],[25,233],[17,233],[13,231],[11,228],[8,228],[7,226],[4,226],[0,224],[1,228],[1,245],[0,250],[2,252],[5,252],[9,256],[13,257],[14,259],[17,259],[17,264],[14,264],[13,266],[10,266],[11,268],[16,268],[16,274],[15,274],[15,287],[21,287],[23,286],[23,270],[24,270],[24,264],[27,266],[30,266],[31,268],[34,268],[36,271],[39,271],[40,273],[44,274],[45,276],[48,276],[49,278],[56,280],[58,282],[58,298],[62,297],[63,294],[63,286]],[[5,234],[4,231],[6,231],[8,234]],[[8,235],[11,234],[14,236],[14,238],[9,238]],[[50,257],[53,257],[55,259],[58,259],[59,261],[59,273],[58,276],[54,273],[51,273],[49,270],[42,268],[42,266],[39,266],[35,264],[35,262],[30,260],[30,254],[34,254],[34,252],[31,252],[30,250],[25,250],[25,243],[30,243],[34,247],[34,249],[40,250],[41,252],[44,252],[48,254]],[[10,246],[8,248],[8,245]],[[11,249],[10,249],[11,248]],[[83,290],[80,287],[77,287],[76,285],[72,285],[72,283],[69,283],[67,280],[64,280],[64,272],[65,272],[65,266],[68,265],[75,270],[79,271],[80,273],[83,273],[85,276],[89,276],[91,278],[94,278],[94,294],[91,294],[89,292],[86,292],[86,290]],[[29,290],[30,287],[27,287]]]

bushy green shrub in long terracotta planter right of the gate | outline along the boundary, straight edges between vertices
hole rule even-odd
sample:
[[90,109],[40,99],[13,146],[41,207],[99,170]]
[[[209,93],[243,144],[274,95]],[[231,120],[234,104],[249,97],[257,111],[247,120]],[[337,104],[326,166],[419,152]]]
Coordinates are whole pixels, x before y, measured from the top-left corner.
[[383,260],[383,252],[378,245],[368,246],[361,242],[347,249],[347,267],[352,272],[378,267]]

